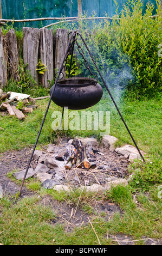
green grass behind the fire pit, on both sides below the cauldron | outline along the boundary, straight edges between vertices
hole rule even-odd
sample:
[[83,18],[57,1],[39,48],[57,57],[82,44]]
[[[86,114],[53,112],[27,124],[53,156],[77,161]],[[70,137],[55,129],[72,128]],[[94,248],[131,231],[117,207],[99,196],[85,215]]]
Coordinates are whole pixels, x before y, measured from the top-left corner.
[[[161,98],[147,99],[142,101],[128,101],[119,103],[119,109],[126,124],[131,131],[139,148],[150,155],[161,157]],[[38,131],[46,112],[48,99],[37,101],[39,107],[29,113],[25,120],[20,121],[16,117],[0,115],[0,151],[20,149],[21,145],[34,144]],[[53,131],[51,124],[53,111],[62,111],[61,107],[51,102],[46,120],[43,125],[38,144],[53,142],[57,135],[60,136],[96,136],[100,138],[100,131]],[[110,134],[119,139],[119,144],[133,144],[126,127],[122,123],[120,115],[113,106],[109,95],[105,94],[103,99],[87,111],[110,111]]]

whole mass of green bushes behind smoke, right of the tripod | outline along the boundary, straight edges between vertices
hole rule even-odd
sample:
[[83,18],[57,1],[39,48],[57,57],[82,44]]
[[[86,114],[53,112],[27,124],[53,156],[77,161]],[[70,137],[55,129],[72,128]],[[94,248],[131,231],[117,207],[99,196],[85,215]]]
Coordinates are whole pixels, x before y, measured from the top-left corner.
[[[162,84],[162,62],[158,56],[158,45],[162,43],[160,1],[154,19],[152,4],[147,4],[145,14],[142,8],[141,1],[128,0],[120,14],[116,8],[112,21],[91,21],[89,26],[85,19],[79,24],[108,87],[127,88],[137,98],[161,92]],[[88,53],[86,58],[90,60]],[[79,62],[82,74],[89,76],[80,57]],[[90,65],[97,74],[94,64]]]

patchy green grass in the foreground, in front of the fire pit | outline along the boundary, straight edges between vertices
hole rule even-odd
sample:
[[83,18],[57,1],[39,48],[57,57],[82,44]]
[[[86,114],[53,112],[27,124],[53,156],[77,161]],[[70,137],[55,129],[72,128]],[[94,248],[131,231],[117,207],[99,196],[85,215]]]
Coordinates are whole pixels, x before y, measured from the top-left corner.
[[[78,193],[78,192],[77,192]],[[74,193],[69,197],[74,196]],[[81,201],[86,197],[80,196]],[[89,195],[87,194],[87,198]],[[65,200],[68,199],[64,193]],[[102,195],[103,197],[103,195]],[[161,236],[161,200],[157,197],[157,188],[152,188],[149,197],[143,193],[137,194],[136,200],[129,187],[118,186],[105,194],[105,200],[112,200],[120,205],[124,214],[116,214],[109,221],[104,216],[96,216],[90,207],[85,209],[93,220],[93,229],[89,224],[76,227],[70,233],[64,232],[64,225],[53,224],[57,218],[52,206],[44,206],[41,197],[23,199],[1,199],[0,241],[4,245],[114,245],[112,235],[126,234],[144,244],[144,237],[160,239]],[[90,197],[92,199],[92,197]],[[77,199],[78,200],[78,199]],[[153,200],[153,201],[152,201]],[[74,203],[74,202],[73,202]],[[87,204],[88,205],[88,204]],[[9,217],[10,216],[10,217]],[[107,231],[109,239],[107,240]]]

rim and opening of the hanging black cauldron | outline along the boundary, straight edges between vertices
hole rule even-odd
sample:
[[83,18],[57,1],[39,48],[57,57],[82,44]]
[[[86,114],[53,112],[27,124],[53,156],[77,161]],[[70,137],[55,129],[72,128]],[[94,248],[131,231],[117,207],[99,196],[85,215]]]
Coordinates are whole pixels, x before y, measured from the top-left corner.
[[[79,83],[75,84],[74,82],[80,80],[80,81],[88,81],[88,83]],[[72,81],[72,84],[66,84],[64,82],[66,81]],[[70,77],[70,78],[63,78],[57,81],[56,85],[59,87],[86,87],[91,85],[96,85],[97,81],[94,78],[89,77]]]

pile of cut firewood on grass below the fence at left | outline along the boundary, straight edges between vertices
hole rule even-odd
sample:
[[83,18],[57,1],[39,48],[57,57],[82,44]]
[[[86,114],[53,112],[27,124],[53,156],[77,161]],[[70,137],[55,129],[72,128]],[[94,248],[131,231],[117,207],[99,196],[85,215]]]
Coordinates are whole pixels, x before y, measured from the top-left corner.
[[30,105],[30,103],[36,103],[30,96],[28,99],[18,100],[17,96],[11,97],[11,92],[3,92],[0,89],[0,111],[8,112],[11,116],[16,116],[22,120],[25,118],[26,113],[33,112],[33,108],[37,108],[37,105]]

